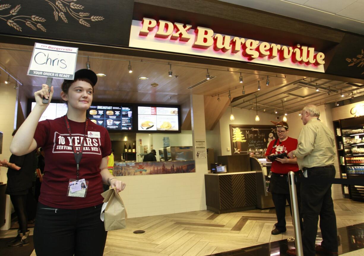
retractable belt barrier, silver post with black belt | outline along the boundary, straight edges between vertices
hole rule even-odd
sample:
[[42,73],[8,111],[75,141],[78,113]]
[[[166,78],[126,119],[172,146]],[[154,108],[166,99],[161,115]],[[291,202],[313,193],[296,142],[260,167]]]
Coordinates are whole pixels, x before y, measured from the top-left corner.
[[289,194],[292,202],[292,221],[294,228],[294,243],[296,245],[296,255],[303,256],[303,247],[302,247],[302,238],[301,238],[301,227],[300,227],[300,216],[298,214],[298,202],[297,202],[297,191],[296,191],[296,183],[331,183],[331,184],[343,184],[343,185],[353,185],[353,186],[364,186],[364,179],[320,179],[318,180],[315,177],[307,177],[303,176],[303,173],[300,172],[299,175],[295,175],[293,171],[288,173],[288,184],[289,184]]

